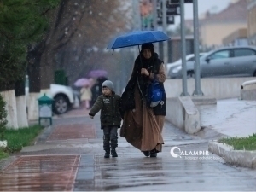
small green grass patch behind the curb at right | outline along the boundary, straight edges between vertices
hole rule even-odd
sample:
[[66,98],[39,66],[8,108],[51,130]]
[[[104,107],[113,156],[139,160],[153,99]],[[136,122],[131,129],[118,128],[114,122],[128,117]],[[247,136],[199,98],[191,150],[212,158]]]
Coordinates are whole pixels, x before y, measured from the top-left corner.
[[256,133],[249,137],[231,137],[218,139],[218,143],[226,143],[235,150],[256,150]]

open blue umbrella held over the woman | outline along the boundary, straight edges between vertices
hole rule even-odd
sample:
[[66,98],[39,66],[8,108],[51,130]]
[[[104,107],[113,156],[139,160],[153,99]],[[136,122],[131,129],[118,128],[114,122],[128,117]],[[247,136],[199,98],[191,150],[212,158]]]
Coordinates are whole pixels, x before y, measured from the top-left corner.
[[161,31],[134,31],[114,38],[107,49],[118,49],[131,47],[134,45],[155,43],[170,40],[164,32]]

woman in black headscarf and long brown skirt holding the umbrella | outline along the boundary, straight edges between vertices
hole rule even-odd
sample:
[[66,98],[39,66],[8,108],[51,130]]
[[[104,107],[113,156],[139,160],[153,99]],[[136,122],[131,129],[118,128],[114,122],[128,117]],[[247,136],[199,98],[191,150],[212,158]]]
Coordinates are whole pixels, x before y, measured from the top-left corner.
[[151,108],[146,102],[148,84],[154,79],[160,82],[164,90],[166,74],[163,61],[154,53],[153,44],[143,44],[122,95],[123,125],[120,136],[150,157],[156,157],[162,150],[164,141],[161,132],[166,116],[165,92],[156,107]]

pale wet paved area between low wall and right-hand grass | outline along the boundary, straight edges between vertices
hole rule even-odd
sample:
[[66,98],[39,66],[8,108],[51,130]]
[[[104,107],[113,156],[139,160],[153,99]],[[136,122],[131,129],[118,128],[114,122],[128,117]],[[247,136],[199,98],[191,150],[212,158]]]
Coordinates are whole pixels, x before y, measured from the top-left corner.
[[217,105],[198,108],[204,128],[229,137],[248,137],[256,133],[256,101],[224,99]]

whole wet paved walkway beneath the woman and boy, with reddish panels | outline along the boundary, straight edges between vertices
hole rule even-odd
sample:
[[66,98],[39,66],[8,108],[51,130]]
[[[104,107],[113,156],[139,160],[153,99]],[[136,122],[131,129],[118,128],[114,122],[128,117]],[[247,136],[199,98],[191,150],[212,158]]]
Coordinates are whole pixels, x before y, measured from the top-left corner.
[[119,137],[119,157],[104,159],[97,118],[55,119],[35,146],[24,148],[3,168],[0,190],[256,190],[255,170],[226,165],[214,154],[172,157],[173,147],[207,151],[207,141],[167,122],[166,144],[157,158],[144,157]]

